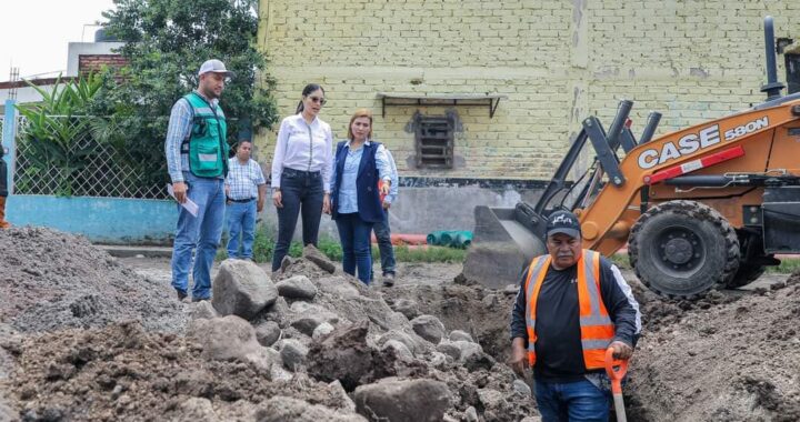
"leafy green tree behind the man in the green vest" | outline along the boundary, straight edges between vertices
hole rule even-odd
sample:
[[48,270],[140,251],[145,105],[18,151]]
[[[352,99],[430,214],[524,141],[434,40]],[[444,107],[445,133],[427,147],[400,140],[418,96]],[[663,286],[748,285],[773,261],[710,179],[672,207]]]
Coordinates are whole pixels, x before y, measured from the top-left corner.
[[163,140],[172,104],[198,84],[208,59],[222,60],[236,73],[220,104],[228,140],[240,132],[270,128],[278,119],[267,60],[256,50],[257,0],[114,0],[103,13],[108,32],[124,47],[128,64],[111,73],[109,89],[94,101],[94,113],[112,115],[124,148],[144,165],[153,182],[167,179]]

